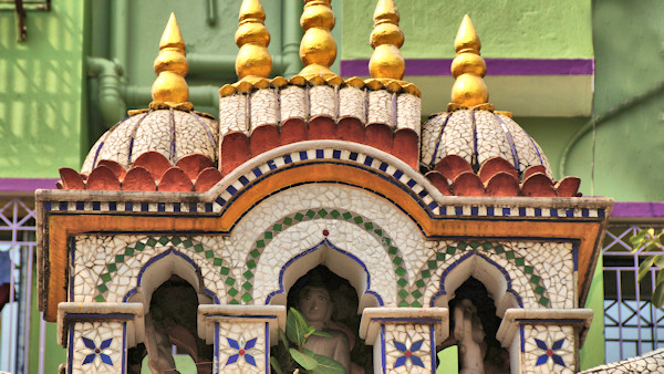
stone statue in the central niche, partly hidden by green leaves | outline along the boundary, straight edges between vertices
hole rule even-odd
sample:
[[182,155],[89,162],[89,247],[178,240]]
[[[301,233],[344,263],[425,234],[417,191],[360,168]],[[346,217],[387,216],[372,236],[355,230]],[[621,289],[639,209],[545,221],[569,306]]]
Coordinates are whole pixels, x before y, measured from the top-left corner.
[[317,331],[325,332],[332,337],[311,335],[304,347],[313,353],[328,356],[351,372],[351,349],[345,333],[330,329],[334,304],[324,287],[305,285],[298,298],[298,310]]

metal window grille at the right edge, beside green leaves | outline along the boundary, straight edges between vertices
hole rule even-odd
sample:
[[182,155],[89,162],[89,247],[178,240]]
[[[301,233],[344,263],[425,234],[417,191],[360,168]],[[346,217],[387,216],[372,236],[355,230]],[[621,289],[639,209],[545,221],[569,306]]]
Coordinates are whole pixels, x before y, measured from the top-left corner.
[[604,337],[606,362],[615,362],[664,346],[664,309],[651,303],[655,269],[637,282],[645,257],[664,252],[631,252],[630,238],[640,229],[661,224],[612,224],[604,237]]

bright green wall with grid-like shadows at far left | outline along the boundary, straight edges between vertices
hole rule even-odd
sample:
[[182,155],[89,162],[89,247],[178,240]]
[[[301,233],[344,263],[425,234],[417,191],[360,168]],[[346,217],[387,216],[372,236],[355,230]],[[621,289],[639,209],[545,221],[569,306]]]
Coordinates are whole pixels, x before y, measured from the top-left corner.
[[0,178],[48,178],[77,168],[82,147],[84,1],[28,12],[18,42],[15,13],[0,12]]

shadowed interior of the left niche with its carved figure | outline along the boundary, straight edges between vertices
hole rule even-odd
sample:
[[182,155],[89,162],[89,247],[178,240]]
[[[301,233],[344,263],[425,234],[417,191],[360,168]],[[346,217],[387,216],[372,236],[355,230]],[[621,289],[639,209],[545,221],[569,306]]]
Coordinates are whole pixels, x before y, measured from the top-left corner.
[[157,288],[145,315],[145,346],[129,350],[128,373],[141,373],[146,353],[152,373],[178,373],[173,344],[191,356],[198,374],[211,373],[214,347],[198,337],[197,310],[198,294],[184,279],[173,276]]

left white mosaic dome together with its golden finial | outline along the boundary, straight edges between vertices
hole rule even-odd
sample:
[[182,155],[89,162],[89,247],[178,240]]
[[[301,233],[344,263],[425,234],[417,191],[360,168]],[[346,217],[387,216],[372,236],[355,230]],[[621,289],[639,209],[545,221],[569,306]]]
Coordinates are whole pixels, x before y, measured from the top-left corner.
[[149,110],[129,111],[129,117],[102,135],[90,149],[82,174],[90,174],[102,160],[116,162],[128,169],[148,152],[162,154],[173,165],[193,154],[216,163],[217,124],[209,114],[194,112],[188,102],[185,41],[174,13],[162,35],[154,70],[157,79],[152,86]]

